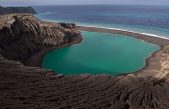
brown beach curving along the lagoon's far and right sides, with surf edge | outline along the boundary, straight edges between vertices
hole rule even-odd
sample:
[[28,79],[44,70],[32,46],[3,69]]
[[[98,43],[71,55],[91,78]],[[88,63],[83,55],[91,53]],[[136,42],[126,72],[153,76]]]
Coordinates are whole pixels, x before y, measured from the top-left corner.
[[[140,68],[134,72],[128,72],[128,73],[120,74],[120,75],[128,75],[128,74],[134,74],[134,75],[142,74],[144,76],[147,75],[143,72],[147,69],[149,70],[150,67],[152,67],[152,64],[154,64],[154,63],[157,64],[156,65],[157,68],[159,66],[157,61],[160,61],[160,60],[157,60],[156,62],[151,61],[151,60],[153,60],[157,57],[160,57],[160,52],[163,50],[163,48],[165,46],[169,45],[169,38],[161,37],[161,36],[157,36],[157,35],[138,33],[138,32],[134,32],[134,31],[127,31],[127,30],[116,29],[116,28],[103,28],[103,27],[93,27],[93,26],[78,26],[78,27],[79,27],[79,30],[81,30],[81,31],[103,32],[103,33],[127,35],[128,37],[134,37],[136,39],[143,40],[145,42],[155,44],[160,47],[159,50],[152,53],[149,57],[147,57],[145,59],[145,64],[144,64],[143,68]],[[117,75],[117,76],[120,76],[120,75]],[[148,75],[150,75],[150,73]]]

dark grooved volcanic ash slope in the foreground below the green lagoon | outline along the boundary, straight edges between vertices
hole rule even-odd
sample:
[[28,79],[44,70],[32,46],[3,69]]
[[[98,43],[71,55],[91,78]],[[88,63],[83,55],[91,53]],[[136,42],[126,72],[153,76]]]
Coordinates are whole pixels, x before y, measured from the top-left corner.
[[[162,60],[169,62],[169,52],[164,53],[166,49],[169,47],[164,49]],[[3,57],[0,57],[0,66],[1,109],[169,108],[168,66],[161,69],[162,74],[144,77],[56,75]]]

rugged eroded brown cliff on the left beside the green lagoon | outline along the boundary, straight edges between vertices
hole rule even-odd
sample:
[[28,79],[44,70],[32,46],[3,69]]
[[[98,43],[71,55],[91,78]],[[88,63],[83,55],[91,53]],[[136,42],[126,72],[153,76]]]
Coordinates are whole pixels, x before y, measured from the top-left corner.
[[42,22],[32,15],[1,16],[0,22],[0,54],[22,63],[42,49],[64,45],[80,37],[75,26],[65,28]]

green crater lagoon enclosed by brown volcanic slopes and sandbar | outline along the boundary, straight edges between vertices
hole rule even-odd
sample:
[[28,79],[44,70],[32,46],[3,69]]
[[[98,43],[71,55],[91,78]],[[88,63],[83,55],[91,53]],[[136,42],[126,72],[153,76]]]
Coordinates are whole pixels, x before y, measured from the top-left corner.
[[47,53],[42,67],[60,74],[120,75],[137,71],[160,47],[119,34],[82,32],[79,44]]

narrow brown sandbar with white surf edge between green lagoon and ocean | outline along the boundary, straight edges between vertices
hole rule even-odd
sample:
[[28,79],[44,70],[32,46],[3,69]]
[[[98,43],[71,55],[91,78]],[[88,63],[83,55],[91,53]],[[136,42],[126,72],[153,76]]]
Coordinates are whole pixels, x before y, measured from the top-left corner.
[[127,31],[127,30],[116,29],[116,28],[102,28],[102,27],[93,27],[93,26],[78,26],[78,27],[79,30],[81,31],[122,34],[122,35],[127,35],[129,37],[141,39],[146,42],[159,45],[159,46],[169,45],[169,38],[163,36],[157,36],[157,35],[146,34],[146,33],[138,33],[134,31]]

